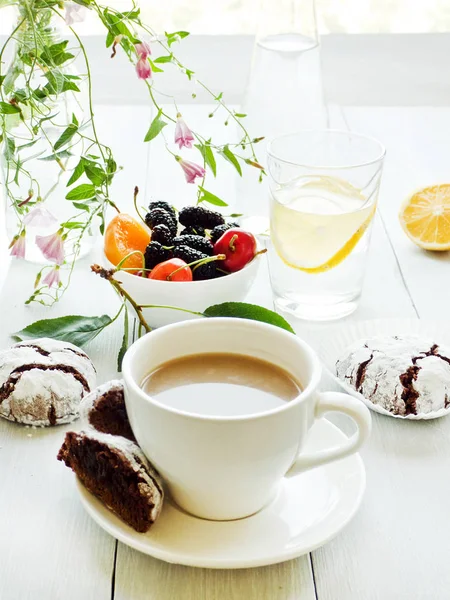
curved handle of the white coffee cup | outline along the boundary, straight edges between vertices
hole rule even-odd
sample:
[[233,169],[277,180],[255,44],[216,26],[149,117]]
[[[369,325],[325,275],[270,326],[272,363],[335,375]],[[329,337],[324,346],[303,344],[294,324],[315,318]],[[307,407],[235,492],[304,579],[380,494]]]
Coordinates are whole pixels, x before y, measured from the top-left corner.
[[361,400],[340,392],[322,392],[319,394],[315,417],[316,419],[320,419],[324,414],[329,412],[340,412],[348,415],[358,426],[358,431],[342,446],[338,446],[337,448],[327,448],[326,450],[320,450],[311,454],[300,454],[286,473],[286,477],[292,477],[319,465],[345,458],[356,452],[369,437],[372,428],[372,419],[369,409]]

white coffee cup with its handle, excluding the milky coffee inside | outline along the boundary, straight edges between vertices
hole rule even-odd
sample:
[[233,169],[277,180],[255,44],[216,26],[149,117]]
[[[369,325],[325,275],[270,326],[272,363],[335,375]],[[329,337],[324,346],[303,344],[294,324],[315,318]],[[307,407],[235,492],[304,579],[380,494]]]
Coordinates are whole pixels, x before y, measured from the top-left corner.
[[[164,405],[141,388],[163,363],[205,352],[254,356],[288,371],[303,387],[298,398],[245,416],[190,414]],[[168,325],[144,335],[123,361],[131,427],[175,502],[212,520],[249,516],[293,476],[356,452],[371,428],[362,402],[339,392],[318,392],[321,366],[296,335],[247,319],[210,318]],[[243,399],[245,402],[245,399]],[[302,454],[308,430],[328,412],[349,415],[358,430],[341,447]]]

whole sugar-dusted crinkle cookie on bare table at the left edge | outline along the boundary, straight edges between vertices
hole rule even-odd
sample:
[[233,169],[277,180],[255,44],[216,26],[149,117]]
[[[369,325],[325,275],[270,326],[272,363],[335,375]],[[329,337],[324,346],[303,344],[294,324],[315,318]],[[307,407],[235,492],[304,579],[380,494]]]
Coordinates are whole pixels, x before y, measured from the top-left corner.
[[0,352],[0,416],[10,421],[70,423],[95,384],[90,358],[68,342],[42,338]]

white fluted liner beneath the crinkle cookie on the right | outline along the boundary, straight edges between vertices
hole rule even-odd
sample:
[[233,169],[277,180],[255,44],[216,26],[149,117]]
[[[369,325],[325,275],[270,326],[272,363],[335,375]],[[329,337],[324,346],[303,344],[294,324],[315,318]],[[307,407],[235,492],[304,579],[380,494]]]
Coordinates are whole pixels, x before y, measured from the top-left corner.
[[339,386],[348,394],[359,398],[371,410],[393,417],[395,419],[409,419],[411,421],[437,419],[450,414],[450,408],[443,408],[430,413],[419,413],[417,415],[393,415],[384,408],[373,404],[370,400],[364,398],[362,394],[356,392],[351,386],[336,377],[336,360],[345,352],[345,350],[354,342],[364,340],[379,335],[417,335],[425,339],[430,339],[437,344],[450,346],[450,324],[444,322],[422,321],[419,319],[374,319],[371,321],[354,321],[338,326],[327,328],[326,332],[320,335],[306,335],[307,341],[312,345],[319,355],[329,375],[339,384]]

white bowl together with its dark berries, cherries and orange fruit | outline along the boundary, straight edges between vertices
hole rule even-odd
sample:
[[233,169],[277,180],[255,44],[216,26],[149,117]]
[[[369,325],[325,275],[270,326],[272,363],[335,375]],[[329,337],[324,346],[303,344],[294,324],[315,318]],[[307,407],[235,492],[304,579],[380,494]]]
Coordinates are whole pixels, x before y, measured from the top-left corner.
[[[135,220],[147,231],[147,238],[131,227],[128,238],[117,235],[119,216],[107,227],[105,256],[118,267],[114,278],[144,307],[150,326],[195,318],[198,315],[192,313],[213,304],[242,301],[249,292],[264,250],[250,232],[237,223],[226,223],[220,213],[202,206],[188,206],[177,213],[166,202],[152,202],[145,225]],[[117,238],[121,253],[116,251],[117,243],[114,252],[110,246]]]

